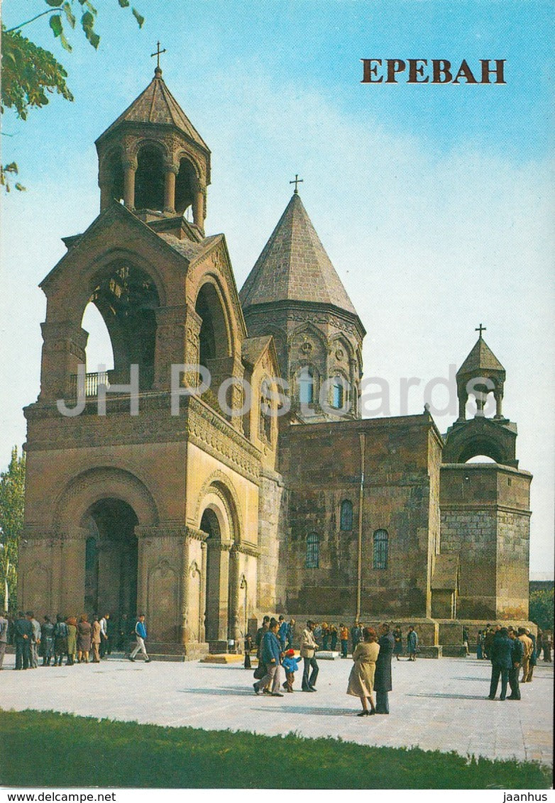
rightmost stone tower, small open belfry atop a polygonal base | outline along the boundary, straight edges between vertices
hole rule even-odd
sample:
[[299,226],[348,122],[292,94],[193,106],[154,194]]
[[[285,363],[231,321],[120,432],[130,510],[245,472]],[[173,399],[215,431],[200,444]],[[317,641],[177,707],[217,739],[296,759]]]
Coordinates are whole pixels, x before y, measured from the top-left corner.
[[[443,436],[441,556],[458,561],[459,618],[525,620],[532,475],[518,468],[516,424],[502,413],[505,369],[481,324],[477,331],[457,372],[459,418]],[[484,414],[489,393],[496,401],[493,417]],[[467,419],[469,394],[476,413]]]

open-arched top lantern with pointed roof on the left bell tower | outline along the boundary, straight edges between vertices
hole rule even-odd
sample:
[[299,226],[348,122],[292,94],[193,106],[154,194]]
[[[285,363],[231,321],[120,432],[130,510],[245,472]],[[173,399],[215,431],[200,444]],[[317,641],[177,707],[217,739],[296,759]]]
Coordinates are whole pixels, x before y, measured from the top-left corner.
[[113,200],[150,222],[190,210],[204,233],[210,150],[162,78],[149,86],[96,140],[100,211]]

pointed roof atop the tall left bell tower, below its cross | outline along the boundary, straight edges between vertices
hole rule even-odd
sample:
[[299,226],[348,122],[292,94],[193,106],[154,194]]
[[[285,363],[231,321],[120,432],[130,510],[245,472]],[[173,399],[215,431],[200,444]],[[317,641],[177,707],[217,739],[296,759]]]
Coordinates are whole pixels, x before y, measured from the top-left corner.
[[120,114],[117,120],[114,120],[103,134],[100,134],[96,143],[98,144],[104,137],[108,137],[112,131],[125,123],[171,125],[178,128],[200,148],[210,153],[206,142],[194,128],[178,101],[169,92],[162,78],[160,67],[155,69],[154,77],[145,91],[133,100],[133,103]]

